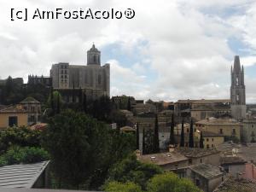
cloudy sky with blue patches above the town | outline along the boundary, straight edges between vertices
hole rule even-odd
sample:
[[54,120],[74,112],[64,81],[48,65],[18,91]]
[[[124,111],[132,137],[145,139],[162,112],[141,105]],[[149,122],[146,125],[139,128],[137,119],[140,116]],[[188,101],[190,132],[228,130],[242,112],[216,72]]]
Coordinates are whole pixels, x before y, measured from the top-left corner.
[[[10,9],[134,9],[132,20],[10,20]],[[86,64],[92,43],[111,65],[111,95],[229,98],[240,55],[247,102],[256,102],[255,0],[0,0],[0,77],[49,75]]]

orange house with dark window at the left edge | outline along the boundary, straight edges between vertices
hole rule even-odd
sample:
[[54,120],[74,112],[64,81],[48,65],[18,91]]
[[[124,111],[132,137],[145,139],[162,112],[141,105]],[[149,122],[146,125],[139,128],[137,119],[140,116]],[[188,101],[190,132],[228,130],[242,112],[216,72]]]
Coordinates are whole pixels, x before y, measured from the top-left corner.
[[0,129],[12,126],[27,126],[28,113],[21,105],[0,110]]

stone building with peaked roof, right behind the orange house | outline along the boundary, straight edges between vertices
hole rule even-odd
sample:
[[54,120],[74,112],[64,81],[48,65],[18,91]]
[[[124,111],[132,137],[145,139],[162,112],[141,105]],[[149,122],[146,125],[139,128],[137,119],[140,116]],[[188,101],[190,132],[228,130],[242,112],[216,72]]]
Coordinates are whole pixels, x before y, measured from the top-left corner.
[[41,103],[32,96],[20,102],[21,107],[28,113],[28,125],[38,124],[41,120]]

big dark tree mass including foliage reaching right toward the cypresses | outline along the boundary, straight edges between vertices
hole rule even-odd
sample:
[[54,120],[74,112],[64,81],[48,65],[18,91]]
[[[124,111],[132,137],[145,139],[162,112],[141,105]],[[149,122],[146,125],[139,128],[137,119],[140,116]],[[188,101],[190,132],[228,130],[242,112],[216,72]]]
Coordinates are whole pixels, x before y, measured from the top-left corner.
[[58,185],[67,189],[98,188],[110,166],[136,148],[134,134],[113,131],[72,110],[50,119],[43,138]]

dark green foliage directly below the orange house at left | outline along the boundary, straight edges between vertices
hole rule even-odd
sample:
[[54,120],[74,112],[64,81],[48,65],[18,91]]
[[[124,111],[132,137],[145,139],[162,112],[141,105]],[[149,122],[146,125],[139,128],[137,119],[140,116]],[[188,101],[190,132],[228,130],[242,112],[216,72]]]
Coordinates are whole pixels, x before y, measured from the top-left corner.
[[40,131],[33,131],[26,127],[9,127],[0,131],[0,154],[6,153],[12,146],[39,147]]

